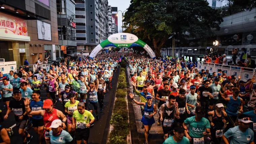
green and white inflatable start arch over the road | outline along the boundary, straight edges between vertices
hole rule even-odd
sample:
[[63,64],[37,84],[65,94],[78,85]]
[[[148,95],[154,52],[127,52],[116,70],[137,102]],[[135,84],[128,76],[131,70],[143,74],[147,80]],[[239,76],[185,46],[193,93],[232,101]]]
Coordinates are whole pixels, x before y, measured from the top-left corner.
[[104,47],[113,46],[113,47],[133,47],[141,46],[148,53],[149,56],[153,59],[156,58],[154,51],[150,48],[148,44],[138,39],[137,36],[130,33],[116,33],[109,36],[106,40],[97,45],[90,54],[90,58],[93,59],[96,57],[97,53]]

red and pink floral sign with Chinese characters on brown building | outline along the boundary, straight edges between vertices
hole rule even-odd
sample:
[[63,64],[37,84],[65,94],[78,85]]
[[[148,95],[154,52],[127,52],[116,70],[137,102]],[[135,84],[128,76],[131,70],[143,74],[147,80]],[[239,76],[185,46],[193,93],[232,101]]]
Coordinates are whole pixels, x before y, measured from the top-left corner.
[[28,36],[27,21],[0,12],[0,34]]

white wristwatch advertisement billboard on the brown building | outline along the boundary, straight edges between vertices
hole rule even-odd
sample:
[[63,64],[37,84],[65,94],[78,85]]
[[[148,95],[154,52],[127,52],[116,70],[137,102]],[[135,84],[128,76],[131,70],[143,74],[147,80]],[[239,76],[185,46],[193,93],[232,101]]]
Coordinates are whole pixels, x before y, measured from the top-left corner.
[[37,20],[37,36],[40,40],[52,41],[51,24]]

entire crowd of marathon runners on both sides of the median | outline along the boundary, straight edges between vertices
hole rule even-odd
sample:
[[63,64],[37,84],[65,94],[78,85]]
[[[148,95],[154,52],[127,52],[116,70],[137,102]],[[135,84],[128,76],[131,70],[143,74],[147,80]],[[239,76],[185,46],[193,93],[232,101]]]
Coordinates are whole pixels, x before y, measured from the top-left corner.
[[[129,96],[140,105],[146,144],[154,115],[163,129],[164,144],[254,144],[255,76],[242,81],[241,76],[228,76],[224,70],[199,71],[196,62],[129,55],[102,53],[94,59],[52,64],[49,71],[40,69],[35,74],[27,67],[20,67],[18,73],[10,71],[8,76],[0,73],[4,102],[0,123],[13,112],[26,144],[33,137],[27,131],[30,127],[40,144],[64,144],[73,138],[77,144],[87,144],[90,128],[103,112],[104,95],[125,59],[134,89]],[[48,99],[42,100],[45,90]],[[137,96],[139,101],[134,99]],[[64,111],[56,108],[57,102]],[[12,128],[0,125],[0,133],[0,143],[10,143]]]

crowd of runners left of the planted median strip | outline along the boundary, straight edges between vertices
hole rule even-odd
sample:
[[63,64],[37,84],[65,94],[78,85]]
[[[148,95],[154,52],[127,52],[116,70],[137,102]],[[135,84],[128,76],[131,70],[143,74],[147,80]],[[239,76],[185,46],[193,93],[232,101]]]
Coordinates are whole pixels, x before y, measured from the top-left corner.
[[[27,131],[31,127],[39,144],[43,141],[65,144],[74,140],[77,144],[87,144],[90,128],[103,112],[104,95],[112,88],[111,80],[121,59],[121,53],[102,53],[94,59],[88,57],[52,64],[48,72],[41,68],[33,74],[27,67],[20,67],[18,73],[10,71],[7,76],[0,73],[4,103],[0,123],[11,119],[9,114],[13,112],[15,128],[24,144],[33,138]],[[48,98],[43,100],[42,91],[45,90]],[[56,108],[57,102],[63,105],[64,111]],[[0,124],[0,133],[0,143],[9,144],[12,128]]]

